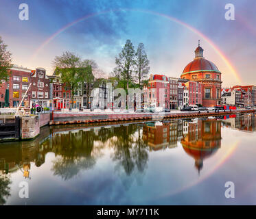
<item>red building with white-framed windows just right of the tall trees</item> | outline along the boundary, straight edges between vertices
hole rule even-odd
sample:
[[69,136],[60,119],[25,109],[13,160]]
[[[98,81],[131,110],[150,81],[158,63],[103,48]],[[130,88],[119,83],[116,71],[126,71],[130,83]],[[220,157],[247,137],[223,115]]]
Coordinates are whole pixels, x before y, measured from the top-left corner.
[[170,79],[165,75],[150,75],[148,103],[170,109]]

